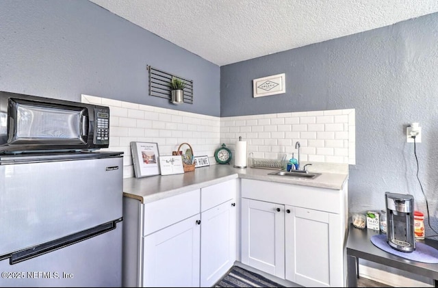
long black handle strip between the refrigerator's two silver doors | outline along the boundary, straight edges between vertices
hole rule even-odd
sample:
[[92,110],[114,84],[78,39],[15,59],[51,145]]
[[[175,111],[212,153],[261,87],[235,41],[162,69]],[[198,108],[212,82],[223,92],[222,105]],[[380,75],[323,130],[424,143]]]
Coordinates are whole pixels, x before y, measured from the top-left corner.
[[38,244],[36,246],[31,246],[29,248],[25,248],[23,250],[18,250],[16,252],[12,252],[10,254],[5,254],[0,256],[0,260],[8,259],[10,265],[26,261],[32,259],[34,257],[38,257],[42,254],[46,254],[52,252],[57,249],[64,248],[66,246],[70,246],[72,244],[78,243],[80,241],[90,239],[94,236],[101,235],[103,233],[107,233],[116,228],[116,223],[123,221],[123,218],[119,218],[117,220],[107,222],[105,224],[101,224],[99,226],[95,226],[93,228],[89,228],[83,230],[81,232],[68,235],[66,237],[62,237],[59,239],[55,239],[52,241],[45,242],[43,244]]

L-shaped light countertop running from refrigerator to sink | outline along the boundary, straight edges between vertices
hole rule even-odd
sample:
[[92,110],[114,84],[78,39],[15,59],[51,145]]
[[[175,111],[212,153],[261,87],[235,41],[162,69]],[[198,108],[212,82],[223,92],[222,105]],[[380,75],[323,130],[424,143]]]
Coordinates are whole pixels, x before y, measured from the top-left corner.
[[322,172],[315,179],[304,179],[268,175],[270,172],[274,172],[274,170],[249,167],[233,168],[231,165],[211,165],[199,167],[192,172],[185,172],[183,174],[125,178],[123,179],[123,196],[147,203],[236,178],[340,190],[348,179],[347,173]]

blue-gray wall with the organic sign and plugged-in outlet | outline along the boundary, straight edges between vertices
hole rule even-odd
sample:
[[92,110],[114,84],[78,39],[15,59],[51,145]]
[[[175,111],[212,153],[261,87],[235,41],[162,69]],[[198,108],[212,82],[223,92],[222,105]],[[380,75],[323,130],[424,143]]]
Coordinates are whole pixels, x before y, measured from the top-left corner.
[[[253,79],[285,73],[286,93],[253,98]],[[351,211],[385,208],[385,192],[412,194],[438,231],[438,13],[220,68],[221,116],[356,110]],[[420,122],[422,142],[407,143]],[[435,235],[426,222],[426,236]]]

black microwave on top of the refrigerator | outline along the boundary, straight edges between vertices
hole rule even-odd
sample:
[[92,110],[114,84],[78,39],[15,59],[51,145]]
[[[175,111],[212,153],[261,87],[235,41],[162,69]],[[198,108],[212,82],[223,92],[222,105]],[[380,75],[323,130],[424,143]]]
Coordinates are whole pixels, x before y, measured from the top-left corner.
[[110,144],[110,107],[0,92],[0,153],[96,150]]

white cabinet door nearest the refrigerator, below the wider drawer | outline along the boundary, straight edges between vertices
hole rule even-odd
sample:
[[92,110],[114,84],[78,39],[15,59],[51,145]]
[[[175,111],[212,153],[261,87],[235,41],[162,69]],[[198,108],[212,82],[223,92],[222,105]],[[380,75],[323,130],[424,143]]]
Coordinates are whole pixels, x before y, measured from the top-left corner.
[[143,237],[143,287],[199,287],[200,216]]

